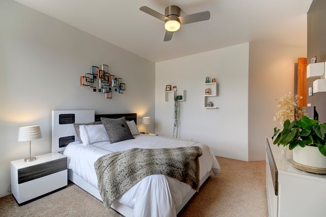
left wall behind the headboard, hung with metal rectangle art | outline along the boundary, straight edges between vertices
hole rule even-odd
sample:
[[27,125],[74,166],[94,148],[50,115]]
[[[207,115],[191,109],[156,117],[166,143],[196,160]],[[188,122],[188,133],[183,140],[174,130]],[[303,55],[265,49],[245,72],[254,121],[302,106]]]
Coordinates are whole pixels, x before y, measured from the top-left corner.
[[[80,86],[91,65],[109,64],[126,91],[112,100]],[[51,152],[51,110],[154,117],[155,64],[10,0],[0,1],[0,197],[10,194],[10,161],[29,156],[18,128],[40,125],[32,155]],[[154,125],[149,125],[154,131]]]

